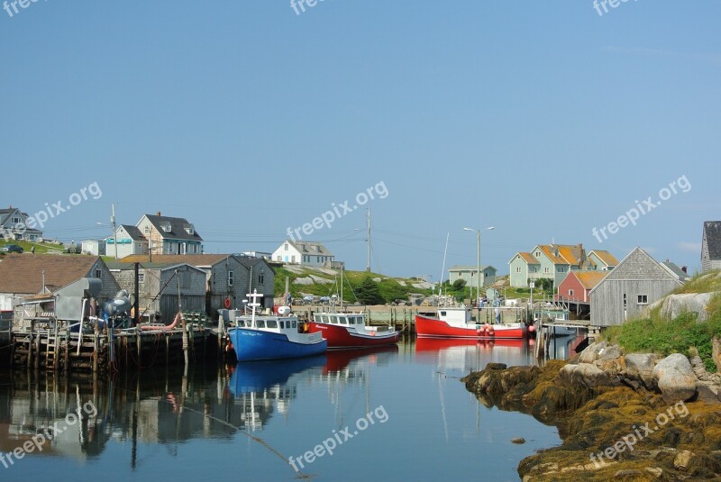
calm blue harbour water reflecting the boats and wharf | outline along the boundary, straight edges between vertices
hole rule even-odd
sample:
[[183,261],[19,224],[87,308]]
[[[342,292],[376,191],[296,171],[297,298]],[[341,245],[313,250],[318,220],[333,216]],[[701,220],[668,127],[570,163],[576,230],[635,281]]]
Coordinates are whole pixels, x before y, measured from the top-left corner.
[[[565,341],[559,347],[562,358]],[[532,364],[533,350],[521,342],[416,341],[392,350],[196,368],[187,377],[144,371],[96,384],[5,371],[0,451],[25,443],[33,449],[12,465],[5,461],[8,468],[0,462],[0,477],[517,480],[521,459],[560,440],[555,428],[486,408],[466,391],[458,378],[489,361]],[[67,417],[93,407],[95,416]],[[43,431],[51,440],[41,440]],[[527,442],[515,445],[515,437]],[[304,454],[324,441],[333,455],[318,449],[322,456],[307,463]],[[298,473],[291,456],[305,466],[296,461]]]

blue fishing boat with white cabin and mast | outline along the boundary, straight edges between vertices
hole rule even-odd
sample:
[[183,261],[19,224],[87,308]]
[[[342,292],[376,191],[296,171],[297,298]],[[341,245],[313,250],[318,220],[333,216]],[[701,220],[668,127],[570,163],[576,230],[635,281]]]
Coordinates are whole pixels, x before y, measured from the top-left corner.
[[238,361],[311,357],[327,350],[328,342],[321,333],[305,332],[304,323],[296,316],[256,314],[260,306],[256,299],[262,295],[254,290],[248,296],[251,315],[238,316],[228,328]]

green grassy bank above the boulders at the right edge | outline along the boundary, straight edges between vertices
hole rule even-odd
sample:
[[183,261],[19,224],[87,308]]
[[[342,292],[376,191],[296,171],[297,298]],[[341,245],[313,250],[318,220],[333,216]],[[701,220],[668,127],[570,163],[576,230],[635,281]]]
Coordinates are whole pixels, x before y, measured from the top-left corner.
[[642,319],[607,328],[604,338],[620,344],[628,352],[653,352],[666,356],[674,352],[689,355],[698,350],[709,372],[716,372],[712,339],[721,337],[721,272],[696,276],[673,294],[715,293],[707,306],[708,319],[697,322],[695,313],[680,314],[673,320],[664,319],[656,307]]

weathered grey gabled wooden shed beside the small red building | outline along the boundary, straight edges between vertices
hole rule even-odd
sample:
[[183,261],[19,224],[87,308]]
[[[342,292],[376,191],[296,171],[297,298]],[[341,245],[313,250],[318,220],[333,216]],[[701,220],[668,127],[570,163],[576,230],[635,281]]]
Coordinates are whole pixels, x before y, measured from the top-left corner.
[[623,324],[681,285],[670,268],[636,247],[591,290],[591,324]]

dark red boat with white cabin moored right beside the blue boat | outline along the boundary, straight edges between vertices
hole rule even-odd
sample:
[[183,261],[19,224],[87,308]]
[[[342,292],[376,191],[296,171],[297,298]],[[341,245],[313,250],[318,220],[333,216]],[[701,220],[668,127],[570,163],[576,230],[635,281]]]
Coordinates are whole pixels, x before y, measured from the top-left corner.
[[399,336],[385,326],[366,325],[366,315],[361,313],[316,313],[308,331],[322,333],[329,349],[395,345]]

